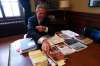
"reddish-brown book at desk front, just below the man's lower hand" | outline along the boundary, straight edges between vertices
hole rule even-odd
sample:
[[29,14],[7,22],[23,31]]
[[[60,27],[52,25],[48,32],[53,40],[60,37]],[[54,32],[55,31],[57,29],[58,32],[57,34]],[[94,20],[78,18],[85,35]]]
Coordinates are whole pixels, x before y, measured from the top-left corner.
[[59,49],[56,47],[56,46],[53,46],[51,49],[50,49],[50,53],[47,54],[48,58],[49,59],[49,62],[53,62],[51,63],[51,65],[55,65],[55,66],[63,66],[65,65],[65,59],[64,59],[64,54],[59,51]]

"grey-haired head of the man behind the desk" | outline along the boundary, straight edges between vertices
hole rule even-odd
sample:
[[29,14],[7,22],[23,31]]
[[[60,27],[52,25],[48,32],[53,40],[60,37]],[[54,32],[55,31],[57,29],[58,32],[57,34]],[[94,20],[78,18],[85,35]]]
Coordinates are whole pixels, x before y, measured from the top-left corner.
[[36,16],[37,19],[43,20],[46,16],[46,7],[44,4],[39,4],[36,7]]

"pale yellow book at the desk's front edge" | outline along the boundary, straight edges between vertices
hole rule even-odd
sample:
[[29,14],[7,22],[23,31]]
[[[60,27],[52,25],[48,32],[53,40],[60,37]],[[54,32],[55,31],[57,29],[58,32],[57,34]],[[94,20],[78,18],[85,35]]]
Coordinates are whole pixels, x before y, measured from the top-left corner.
[[33,66],[48,66],[48,59],[41,50],[30,51],[29,57]]

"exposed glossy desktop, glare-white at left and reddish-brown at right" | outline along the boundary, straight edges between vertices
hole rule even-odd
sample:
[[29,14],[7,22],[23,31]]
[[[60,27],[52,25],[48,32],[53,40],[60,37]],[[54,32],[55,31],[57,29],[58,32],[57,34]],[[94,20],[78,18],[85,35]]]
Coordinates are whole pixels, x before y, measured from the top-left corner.
[[[10,66],[32,66],[27,54],[20,55],[13,46],[10,50]],[[0,66],[7,66],[8,55],[9,47],[0,47]],[[65,66],[100,66],[100,44],[90,44],[87,49],[71,54]]]

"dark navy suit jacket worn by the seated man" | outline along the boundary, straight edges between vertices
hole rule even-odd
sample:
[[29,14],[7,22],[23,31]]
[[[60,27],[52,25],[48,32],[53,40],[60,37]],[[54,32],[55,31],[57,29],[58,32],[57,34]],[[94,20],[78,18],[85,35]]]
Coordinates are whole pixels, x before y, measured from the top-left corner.
[[31,37],[37,43],[38,39],[44,35],[50,35],[50,36],[54,35],[54,33],[57,30],[55,29],[55,26],[50,26],[49,23],[50,23],[50,19],[48,17],[45,17],[40,24],[48,27],[48,32],[38,32],[35,29],[35,27],[39,25],[36,16],[30,17],[28,19],[28,26],[27,26],[28,37]]

